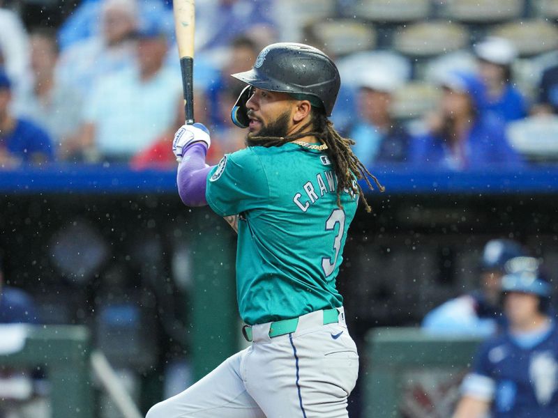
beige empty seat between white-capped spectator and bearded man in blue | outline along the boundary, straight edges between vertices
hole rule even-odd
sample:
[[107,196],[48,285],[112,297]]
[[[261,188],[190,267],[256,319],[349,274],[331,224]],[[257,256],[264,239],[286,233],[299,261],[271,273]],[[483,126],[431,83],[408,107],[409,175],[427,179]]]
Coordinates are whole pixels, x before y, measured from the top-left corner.
[[395,91],[392,112],[397,119],[412,119],[435,109],[439,89],[424,82],[411,82]]

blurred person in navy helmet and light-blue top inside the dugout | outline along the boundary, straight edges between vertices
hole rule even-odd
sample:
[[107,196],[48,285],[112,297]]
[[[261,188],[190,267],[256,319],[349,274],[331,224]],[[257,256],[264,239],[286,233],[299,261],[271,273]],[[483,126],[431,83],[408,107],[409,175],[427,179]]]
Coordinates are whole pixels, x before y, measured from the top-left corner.
[[448,300],[430,311],[423,320],[423,330],[446,335],[495,334],[503,325],[499,302],[506,263],[520,256],[525,256],[525,251],[515,241],[488,241],[480,263],[481,288]]

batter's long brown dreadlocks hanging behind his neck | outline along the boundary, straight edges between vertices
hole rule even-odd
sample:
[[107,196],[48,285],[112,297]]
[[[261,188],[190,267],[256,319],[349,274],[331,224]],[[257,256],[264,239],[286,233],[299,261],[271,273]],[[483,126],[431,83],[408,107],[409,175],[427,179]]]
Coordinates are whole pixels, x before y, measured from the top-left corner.
[[[312,125],[312,132],[303,132],[310,125]],[[326,153],[333,163],[333,169],[337,177],[337,206],[339,208],[343,207],[341,204],[341,193],[344,190],[352,190],[354,194],[358,194],[361,197],[366,212],[370,213],[372,209],[368,205],[363,190],[359,183],[355,181],[355,178],[356,180],[364,179],[372,190],[374,187],[370,183],[370,178],[372,178],[380,192],[384,192],[385,187],[379,183],[376,176],[370,173],[359,158],[354,155],[351,149],[354,141],[341,137],[333,128],[333,123],[329,121],[322,109],[312,106],[310,121],[292,135],[287,137],[251,137],[250,140],[252,144],[254,142],[261,142],[262,146],[269,148],[270,146],[282,146],[287,144],[287,142],[296,141],[296,139],[303,137],[315,137],[327,146]]]

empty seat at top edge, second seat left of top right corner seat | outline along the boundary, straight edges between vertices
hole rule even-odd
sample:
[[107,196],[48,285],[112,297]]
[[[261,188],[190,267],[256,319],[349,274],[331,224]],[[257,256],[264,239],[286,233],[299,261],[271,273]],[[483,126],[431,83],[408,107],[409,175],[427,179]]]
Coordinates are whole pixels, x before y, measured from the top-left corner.
[[402,23],[428,17],[430,8],[430,0],[365,0],[356,2],[353,14],[377,23]]

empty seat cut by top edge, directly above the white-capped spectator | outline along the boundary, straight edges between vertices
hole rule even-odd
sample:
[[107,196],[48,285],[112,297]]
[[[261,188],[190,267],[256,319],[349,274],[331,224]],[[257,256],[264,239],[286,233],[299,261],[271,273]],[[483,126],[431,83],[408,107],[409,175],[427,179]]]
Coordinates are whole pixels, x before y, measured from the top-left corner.
[[525,0],[450,0],[444,16],[465,23],[506,22],[520,17]]

